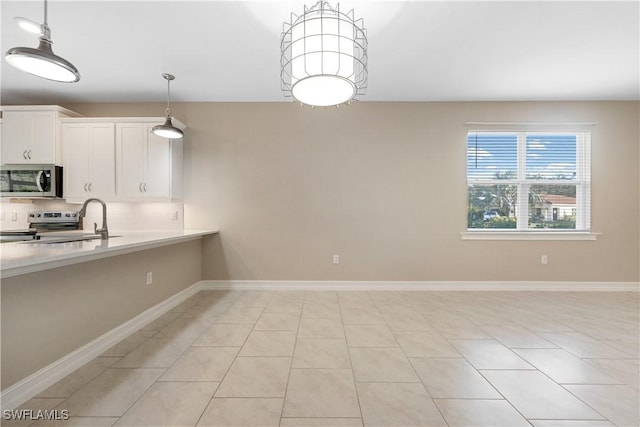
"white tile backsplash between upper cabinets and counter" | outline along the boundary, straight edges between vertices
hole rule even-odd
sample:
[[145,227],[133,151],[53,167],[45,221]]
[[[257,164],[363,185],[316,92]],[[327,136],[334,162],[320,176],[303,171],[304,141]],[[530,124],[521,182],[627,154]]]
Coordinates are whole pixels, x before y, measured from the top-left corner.
[[[18,230],[29,226],[27,215],[34,210],[80,210],[80,204],[61,200],[2,200],[0,204],[0,229]],[[92,230],[93,223],[102,224],[102,206],[91,203],[83,228]],[[182,230],[184,206],[182,202],[107,203],[109,230]]]

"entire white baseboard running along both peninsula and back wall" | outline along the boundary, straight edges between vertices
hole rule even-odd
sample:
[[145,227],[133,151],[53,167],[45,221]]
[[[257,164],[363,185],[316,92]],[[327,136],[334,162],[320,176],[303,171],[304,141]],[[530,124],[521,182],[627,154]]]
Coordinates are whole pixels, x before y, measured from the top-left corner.
[[640,283],[203,280],[3,390],[0,396],[2,410],[15,409],[200,290],[638,292]]

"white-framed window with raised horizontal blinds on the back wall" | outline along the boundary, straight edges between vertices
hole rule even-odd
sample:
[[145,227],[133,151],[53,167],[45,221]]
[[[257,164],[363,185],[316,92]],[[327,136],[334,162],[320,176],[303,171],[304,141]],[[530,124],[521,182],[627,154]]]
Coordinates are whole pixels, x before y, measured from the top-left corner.
[[469,132],[469,231],[589,231],[589,132]]

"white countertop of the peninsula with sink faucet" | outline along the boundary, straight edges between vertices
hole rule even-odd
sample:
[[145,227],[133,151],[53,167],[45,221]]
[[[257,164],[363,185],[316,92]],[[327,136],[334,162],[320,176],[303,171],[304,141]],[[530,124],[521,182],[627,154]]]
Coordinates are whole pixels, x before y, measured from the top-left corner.
[[[12,277],[95,259],[143,251],[199,239],[216,230],[110,231],[108,240],[83,240],[67,243],[42,241],[2,243],[0,245],[0,277]],[[47,233],[47,239],[77,233]],[[117,237],[116,237],[117,236]],[[43,240],[44,241],[44,240]],[[33,243],[32,243],[33,242]]]

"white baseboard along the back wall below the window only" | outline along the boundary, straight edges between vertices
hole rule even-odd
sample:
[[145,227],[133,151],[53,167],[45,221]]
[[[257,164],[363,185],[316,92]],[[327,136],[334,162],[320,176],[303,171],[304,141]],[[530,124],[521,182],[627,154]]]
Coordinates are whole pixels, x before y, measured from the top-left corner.
[[203,290],[245,291],[640,291],[639,282],[203,280],[200,283]]

